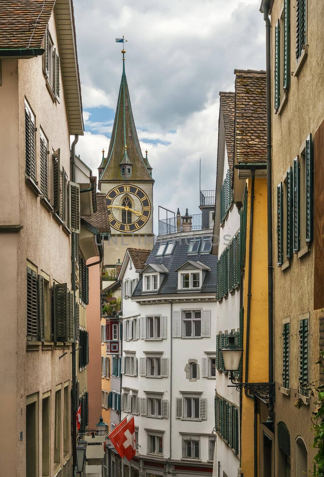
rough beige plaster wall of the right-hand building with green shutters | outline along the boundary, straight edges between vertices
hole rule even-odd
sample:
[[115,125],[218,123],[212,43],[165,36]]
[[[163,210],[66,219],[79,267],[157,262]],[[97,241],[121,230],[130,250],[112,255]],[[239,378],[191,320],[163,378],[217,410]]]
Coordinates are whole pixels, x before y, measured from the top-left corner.
[[[280,15],[282,2],[275,0],[271,21],[274,25]],[[290,69],[296,71],[295,60],[295,17],[296,0],[290,2]],[[324,4],[320,0],[307,2],[308,53],[296,77],[290,75],[287,102],[281,114],[274,114],[274,91],[272,90],[272,143],[273,143],[273,197],[277,184],[293,159],[299,155],[300,147],[309,133],[314,133],[324,119],[324,104],[319,93],[324,90],[324,75],[321,59],[324,56],[324,41],[319,19],[324,15]],[[272,62],[275,54],[275,31],[272,29]],[[272,73],[272,77],[274,73]],[[316,177],[314,178],[316,181]],[[311,467],[315,452],[308,445],[313,441],[309,432],[314,397],[309,405],[299,410],[294,406],[299,386],[299,315],[309,312],[309,381],[319,378],[315,365],[319,354],[319,317],[323,311],[314,310],[314,253],[313,244],[303,258],[294,255],[290,267],[282,271],[276,266],[276,201],[273,201],[274,237],[274,357],[276,389],[282,385],[282,331],[283,320],[290,320],[290,396],[276,393],[275,415],[277,422],[284,421],[291,438],[291,462],[295,468],[295,438],[301,435],[308,449],[308,467]],[[277,452],[276,463],[277,466]]]

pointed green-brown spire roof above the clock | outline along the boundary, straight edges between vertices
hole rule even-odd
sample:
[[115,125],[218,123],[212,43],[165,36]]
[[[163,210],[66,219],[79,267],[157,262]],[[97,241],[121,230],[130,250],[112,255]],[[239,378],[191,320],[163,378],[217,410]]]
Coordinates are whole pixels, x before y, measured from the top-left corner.
[[107,157],[103,156],[99,168],[104,168],[101,181],[125,180],[120,174],[121,164],[131,164],[133,180],[150,180],[151,168],[147,167],[147,159],[143,157],[135,127],[132,107],[130,104],[128,84],[125,73],[125,50],[123,53],[123,73],[121,76],[118,103],[114,125],[112,128]]

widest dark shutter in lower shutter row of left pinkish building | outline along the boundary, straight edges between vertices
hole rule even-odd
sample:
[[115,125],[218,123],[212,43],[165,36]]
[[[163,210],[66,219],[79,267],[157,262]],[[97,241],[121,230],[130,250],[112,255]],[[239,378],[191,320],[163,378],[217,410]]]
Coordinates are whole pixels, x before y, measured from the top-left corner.
[[54,341],[68,341],[68,285],[54,285]]

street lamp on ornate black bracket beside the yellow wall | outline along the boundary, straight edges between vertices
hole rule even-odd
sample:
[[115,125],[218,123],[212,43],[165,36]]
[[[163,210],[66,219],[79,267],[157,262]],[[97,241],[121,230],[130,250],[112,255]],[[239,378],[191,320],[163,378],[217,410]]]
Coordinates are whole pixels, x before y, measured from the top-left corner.
[[[235,335],[229,334],[228,344],[220,350],[225,369],[229,372],[231,383],[233,383],[233,372],[239,370],[243,354],[243,349],[237,346],[235,340]],[[237,391],[244,388],[246,391],[250,391],[251,394],[255,394],[261,399],[268,399],[275,391],[275,383],[233,383],[233,385],[230,384],[228,387],[236,387]]]

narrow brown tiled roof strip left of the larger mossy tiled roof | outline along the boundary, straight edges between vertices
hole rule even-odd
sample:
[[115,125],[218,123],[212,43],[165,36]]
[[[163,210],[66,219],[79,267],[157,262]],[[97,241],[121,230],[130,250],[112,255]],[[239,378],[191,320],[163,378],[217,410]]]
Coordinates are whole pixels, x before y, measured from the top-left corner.
[[220,91],[219,96],[224,118],[228,166],[232,173],[234,164],[235,93]]

